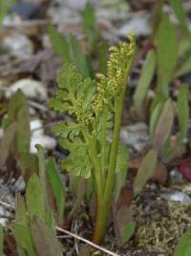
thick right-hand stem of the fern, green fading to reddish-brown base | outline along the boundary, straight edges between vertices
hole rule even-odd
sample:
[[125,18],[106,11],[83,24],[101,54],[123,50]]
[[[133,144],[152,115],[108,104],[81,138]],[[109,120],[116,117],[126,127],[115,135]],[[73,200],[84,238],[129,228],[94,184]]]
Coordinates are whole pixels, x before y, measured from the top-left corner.
[[122,90],[120,96],[118,96],[117,99],[115,100],[115,127],[114,127],[114,135],[113,135],[112,147],[110,152],[108,174],[106,178],[106,185],[104,189],[103,199],[101,199],[101,202],[97,203],[97,210],[96,210],[96,229],[93,236],[93,241],[96,244],[101,244],[104,239],[109,211],[113,201],[113,193],[114,193],[115,178],[116,178],[116,166],[117,166],[118,140],[119,140],[119,133],[120,133],[124,96],[125,96],[125,87]]

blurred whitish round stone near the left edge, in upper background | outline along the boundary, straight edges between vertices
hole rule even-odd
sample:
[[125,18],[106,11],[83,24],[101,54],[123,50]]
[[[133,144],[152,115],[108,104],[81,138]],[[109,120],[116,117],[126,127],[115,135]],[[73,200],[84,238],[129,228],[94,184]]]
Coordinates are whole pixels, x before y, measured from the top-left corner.
[[2,47],[7,49],[11,56],[19,59],[28,59],[32,56],[32,42],[23,33],[11,32],[2,40]]

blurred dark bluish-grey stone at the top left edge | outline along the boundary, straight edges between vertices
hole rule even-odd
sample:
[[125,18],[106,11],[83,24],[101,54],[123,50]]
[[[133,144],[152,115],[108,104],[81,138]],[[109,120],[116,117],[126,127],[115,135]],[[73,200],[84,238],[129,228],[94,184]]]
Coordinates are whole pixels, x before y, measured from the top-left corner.
[[11,12],[18,14],[24,18],[35,18],[38,14],[37,5],[32,2],[18,2],[11,7]]

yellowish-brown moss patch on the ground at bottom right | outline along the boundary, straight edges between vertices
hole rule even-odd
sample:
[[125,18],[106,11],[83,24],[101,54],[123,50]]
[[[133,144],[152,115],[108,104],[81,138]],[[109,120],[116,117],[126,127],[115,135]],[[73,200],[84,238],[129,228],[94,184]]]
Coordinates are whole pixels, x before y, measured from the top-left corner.
[[134,214],[138,226],[136,248],[160,256],[173,255],[181,235],[191,225],[190,203],[159,200],[149,210],[145,210],[142,205],[134,205]]

